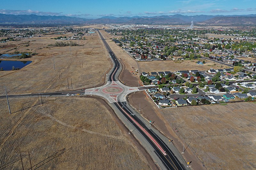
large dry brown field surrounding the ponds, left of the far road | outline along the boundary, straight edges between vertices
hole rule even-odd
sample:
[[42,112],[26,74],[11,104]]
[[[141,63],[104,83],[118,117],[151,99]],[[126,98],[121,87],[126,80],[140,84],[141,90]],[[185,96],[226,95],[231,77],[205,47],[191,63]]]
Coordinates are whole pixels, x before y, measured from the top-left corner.
[[[66,33],[61,36],[69,35],[73,34]],[[22,39],[16,42],[12,41],[0,48],[0,53],[2,54],[14,51],[38,53],[38,55],[31,58],[21,59],[20,61],[33,61],[21,70],[0,72],[0,81],[8,84],[9,93],[68,90],[67,79],[69,79],[69,88],[71,88],[71,78],[73,89],[88,88],[94,84],[95,86],[100,86],[104,83],[104,76],[110,69],[111,63],[109,55],[97,33],[85,36],[86,40],[80,40],[79,44],[84,46],[71,48],[47,47],[48,44],[56,42],[50,38],[58,36],[60,35],[51,34],[43,37]],[[76,42],[78,43],[78,40]],[[30,45],[24,47],[26,43]],[[14,49],[15,47],[17,49]],[[54,56],[55,71],[53,70],[52,56]],[[59,78],[60,73],[61,79]],[[3,90],[2,86],[0,92]]]

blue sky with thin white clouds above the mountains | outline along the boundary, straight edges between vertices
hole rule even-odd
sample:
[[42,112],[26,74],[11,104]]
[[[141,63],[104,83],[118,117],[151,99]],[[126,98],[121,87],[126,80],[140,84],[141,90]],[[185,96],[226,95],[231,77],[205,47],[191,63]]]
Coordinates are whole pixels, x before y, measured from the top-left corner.
[[0,13],[81,18],[256,14],[256,0],[2,0]]

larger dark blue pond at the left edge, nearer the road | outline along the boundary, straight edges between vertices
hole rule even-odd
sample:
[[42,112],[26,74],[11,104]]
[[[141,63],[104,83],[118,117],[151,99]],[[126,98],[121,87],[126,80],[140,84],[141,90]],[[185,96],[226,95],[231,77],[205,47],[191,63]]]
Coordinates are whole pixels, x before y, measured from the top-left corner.
[[1,61],[0,60],[0,68],[3,68],[4,71],[12,70],[12,66],[15,68],[23,68],[26,65],[32,63],[32,61]]

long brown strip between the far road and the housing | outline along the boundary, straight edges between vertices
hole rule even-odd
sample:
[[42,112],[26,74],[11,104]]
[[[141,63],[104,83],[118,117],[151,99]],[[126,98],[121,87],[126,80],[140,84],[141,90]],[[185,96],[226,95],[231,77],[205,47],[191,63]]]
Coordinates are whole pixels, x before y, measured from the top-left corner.
[[[135,61],[129,54],[127,54],[122,48],[116,45],[116,43],[109,38],[113,38],[110,34],[108,34],[106,31],[100,30],[100,32],[103,34],[103,36],[107,39],[107,43],[109,47],[112,49],[112,51],[115,53],[116,57],[122,62],[123,64],[123,71],[119,76],[119,80],[123,82],[125,85],[129,86],[138,86],[139,81],[139,75],[132,74],[131,71],[139,70],[140,73],[140,67],[138,65],[138,62]],[[132,69],[134,67],[135,69]]]

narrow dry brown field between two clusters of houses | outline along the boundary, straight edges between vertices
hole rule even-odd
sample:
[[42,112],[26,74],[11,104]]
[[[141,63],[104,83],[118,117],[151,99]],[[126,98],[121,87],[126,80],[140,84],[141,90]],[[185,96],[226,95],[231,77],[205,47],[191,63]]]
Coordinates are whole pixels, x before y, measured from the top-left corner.
[[[152,61],[152,62],[138,62],[141,72],[151,72],[151,71],[178,71],[178,70],[209,70],[210,68],[229,68],[228,66],[223,66],[219,63],[214,63],[210,60],[204,60],[206,63],[204,65],[196,64],[198,60],[181,60],[182,63],[175,63],[173,60],[167,61]],[[222,66],[222,67],[221,67]]]

